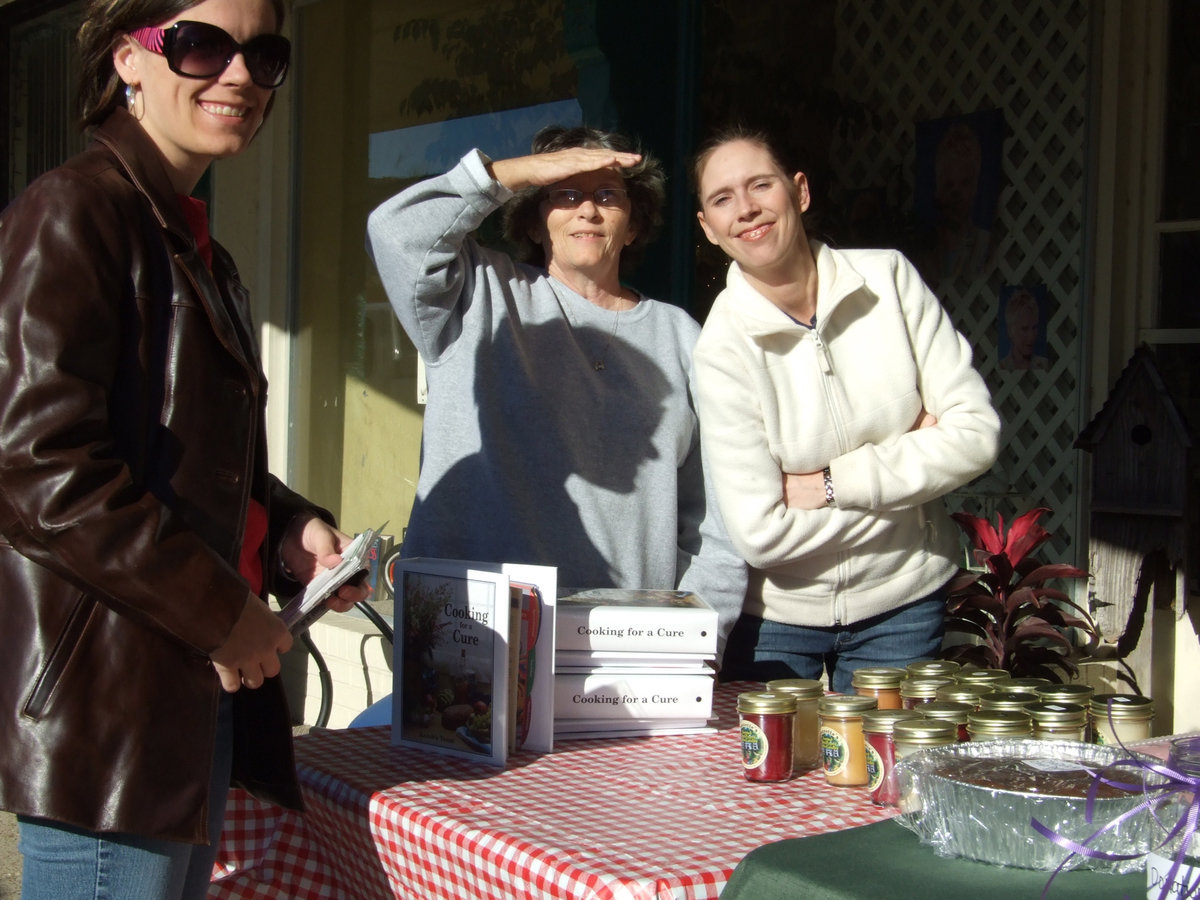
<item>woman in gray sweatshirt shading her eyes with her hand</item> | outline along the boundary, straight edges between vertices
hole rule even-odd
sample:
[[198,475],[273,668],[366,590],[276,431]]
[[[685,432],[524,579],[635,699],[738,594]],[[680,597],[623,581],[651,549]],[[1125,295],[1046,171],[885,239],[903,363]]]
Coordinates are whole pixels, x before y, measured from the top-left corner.
[[[691,395],[700,326],[622,281],[661,221],[659,163],[620,134],[552,126],[478,150],[372,212],[370,250],[426,364],[407,556],[558,566],[575,588],[745,593],[708,487]],[[524,262],[473,236],[505,203]]]

